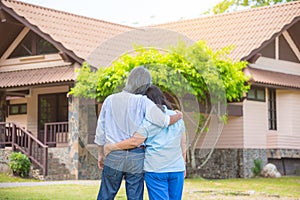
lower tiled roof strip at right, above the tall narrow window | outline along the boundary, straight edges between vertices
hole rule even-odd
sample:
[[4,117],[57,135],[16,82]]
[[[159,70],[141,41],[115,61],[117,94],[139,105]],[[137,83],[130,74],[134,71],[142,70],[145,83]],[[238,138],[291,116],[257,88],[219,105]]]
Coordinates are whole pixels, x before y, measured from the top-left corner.
[[251,67],[247,67],[244,72],[251,76],[250,82],[279,87],[300,88],[300,76],[297,75],[254,69]]

